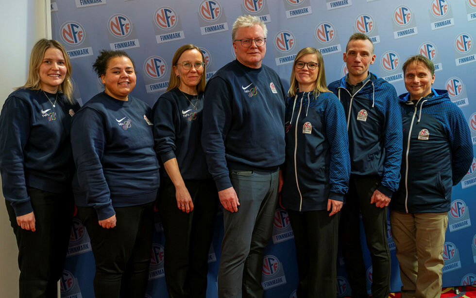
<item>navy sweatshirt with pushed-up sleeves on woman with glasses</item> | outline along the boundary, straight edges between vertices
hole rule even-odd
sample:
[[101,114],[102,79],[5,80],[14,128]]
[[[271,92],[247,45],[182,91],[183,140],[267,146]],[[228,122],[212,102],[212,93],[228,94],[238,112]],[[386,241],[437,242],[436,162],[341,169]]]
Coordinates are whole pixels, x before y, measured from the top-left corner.
[[[196,106],[196,110],[193,105]],[[183,94],[178,88],[162,94],[153,107],[155,152],[162,163],[177,158],[184,179],[210,178],[202,148],[204,94]],[[167,172],[162,175],[168,177]]]

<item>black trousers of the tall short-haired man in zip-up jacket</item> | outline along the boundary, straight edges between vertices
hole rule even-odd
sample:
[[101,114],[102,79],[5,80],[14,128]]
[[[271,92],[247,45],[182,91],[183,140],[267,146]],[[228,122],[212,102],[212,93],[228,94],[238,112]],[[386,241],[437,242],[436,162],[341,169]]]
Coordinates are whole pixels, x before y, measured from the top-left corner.
[[352,288],[352,297],[368,297],[366,270],[360,247],[360,217],[372,257],[372,297],[388,298],[390,293],[390,249],[387,243],[387,207],[370,204],[380,177],[351,175],[349,192],[341,212],[340,244],[345,268]]

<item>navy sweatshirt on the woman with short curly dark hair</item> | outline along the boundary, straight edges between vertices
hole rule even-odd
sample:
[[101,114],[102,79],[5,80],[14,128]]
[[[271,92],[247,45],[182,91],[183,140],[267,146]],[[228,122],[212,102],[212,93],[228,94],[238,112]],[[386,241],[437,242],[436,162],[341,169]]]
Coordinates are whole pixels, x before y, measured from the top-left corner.
[[76,113],[71,144],[77,206],[93,207],[103,220],[115,214],[114,207],[155,200],[159,165],[149,119],[151,108],[144,102],[130,95],[120,101],[104,92]]

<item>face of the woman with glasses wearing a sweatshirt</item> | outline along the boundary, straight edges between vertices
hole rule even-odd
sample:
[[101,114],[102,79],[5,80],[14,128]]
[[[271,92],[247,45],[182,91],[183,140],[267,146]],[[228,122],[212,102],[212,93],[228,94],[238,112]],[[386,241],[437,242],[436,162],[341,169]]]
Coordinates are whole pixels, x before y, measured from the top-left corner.
[[[187,50],[182,53],[177,60],[177,63],[183,63],[184,61],[190,61],[193,63],[195,62],[203,62],[202,60],[202,53],[198,50],[192,49]],[[189,70],[185,70],[182,65],[174,65],[173,71],[175,75],[178,75],[180,79],[179,89],[188,94],[196,94],[197,93],[197,85],[200,83],[202,79],[202,74],[204,69],[197,70],[194,66],[192,66]]]

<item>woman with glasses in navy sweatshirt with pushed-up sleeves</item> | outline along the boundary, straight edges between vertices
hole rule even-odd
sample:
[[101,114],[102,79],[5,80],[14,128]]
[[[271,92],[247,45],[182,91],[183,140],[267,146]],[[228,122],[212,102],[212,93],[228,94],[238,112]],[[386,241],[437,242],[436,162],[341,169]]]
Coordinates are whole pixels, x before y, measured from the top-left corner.
[[205,65],[191,44],[172,58],[167,92],[153,107],[154,142],[163,163],[159,212],[165,234],[165,280],[171,298],[205,297],[208,251],[218,195],[202,143]]

